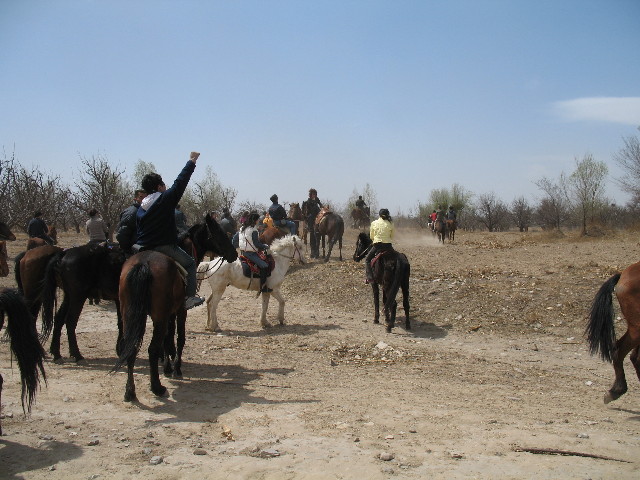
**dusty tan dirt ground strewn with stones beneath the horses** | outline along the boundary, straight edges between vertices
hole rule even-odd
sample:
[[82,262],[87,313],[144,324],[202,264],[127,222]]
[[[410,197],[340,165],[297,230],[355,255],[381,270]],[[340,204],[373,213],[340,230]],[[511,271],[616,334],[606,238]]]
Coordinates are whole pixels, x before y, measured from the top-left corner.
[[[334,252],[289,272],[284,326],[261,329],[260,301],[233,287],[220,304],[221,334],[205,332],[204,306],[190,311],[185,376],[163,379],[168,398],[148,388],[147,330],[139,402],[123,402],[125,373],[108,374],[111,302],[85,306],[86,363],[47,362],[28,418],[0,344],[0,477],[640,478],[640,383],[626,360],[629,393],[604,405],[613,370],[583,338],[597,289],[638,260],[637,234],[459,231],[444,246],[425,231],[398,236],[412,268],[410,331],[402,310],[391,334],[371,323],[348,230],[344,261]],[[23,245],[23,236],[9,243],[10,256]],[[619,320],[618,335],[624,328]]]

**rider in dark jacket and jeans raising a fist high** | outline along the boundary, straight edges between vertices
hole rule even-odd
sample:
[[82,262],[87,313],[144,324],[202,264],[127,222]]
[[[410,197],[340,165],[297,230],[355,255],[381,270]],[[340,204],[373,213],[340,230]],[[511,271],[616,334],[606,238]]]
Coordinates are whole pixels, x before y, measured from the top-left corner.
[[187,271],[185,308],[197,307],[204,298],[196,295],[196,263],[191,255],[178,246],[175,207],[184,194],[189,179],[196,168],[200,154],[191,152],[191,157],[170,188],[157,173],[148,173],[142,178],[142,188],[147,196],[142,201],[137,216],[136,245],[145,250],[156,250],[173,258]]

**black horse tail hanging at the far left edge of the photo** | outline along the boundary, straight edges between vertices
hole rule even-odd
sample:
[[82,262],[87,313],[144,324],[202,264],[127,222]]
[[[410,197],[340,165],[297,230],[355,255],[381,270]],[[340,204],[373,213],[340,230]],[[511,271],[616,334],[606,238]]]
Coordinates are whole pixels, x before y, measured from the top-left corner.
[[[40,379],[46,383],[44,371],[45,353],[38,340],[31,314],[24,298],[17,290],[0,288],[0,330],[7,317],[7,335],[9,348],[18,363],[20,380],[22,382],[22,411],[25,415],[31,412],[31,406],[36,398]],[[2,375],[0,375],[0,408],[2,406]],[[1,417],[0,417],[1,418]],[[2,425],[0,424],[0,436]]]

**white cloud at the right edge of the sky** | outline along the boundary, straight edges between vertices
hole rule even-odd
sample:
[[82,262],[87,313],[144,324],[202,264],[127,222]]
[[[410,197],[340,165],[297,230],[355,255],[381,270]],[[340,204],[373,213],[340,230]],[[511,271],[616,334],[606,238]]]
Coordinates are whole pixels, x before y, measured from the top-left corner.
[[587,97],[553,104],[569,121],[598,121],[640,125],[640,97]]

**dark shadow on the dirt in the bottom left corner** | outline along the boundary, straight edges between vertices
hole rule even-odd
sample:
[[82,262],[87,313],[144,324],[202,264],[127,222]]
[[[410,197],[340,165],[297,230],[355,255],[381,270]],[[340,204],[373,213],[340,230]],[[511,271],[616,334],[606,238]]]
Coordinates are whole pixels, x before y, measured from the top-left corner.
[[[50,440],[40,447],[30,447],[20,443],[0,438],[0,465],[2,478],[18,480],[24,478],[22,474],[51,467],[61,462],[80,458],[82,447],[70,442]],[[24,459],[28,458],[27,462]]]

